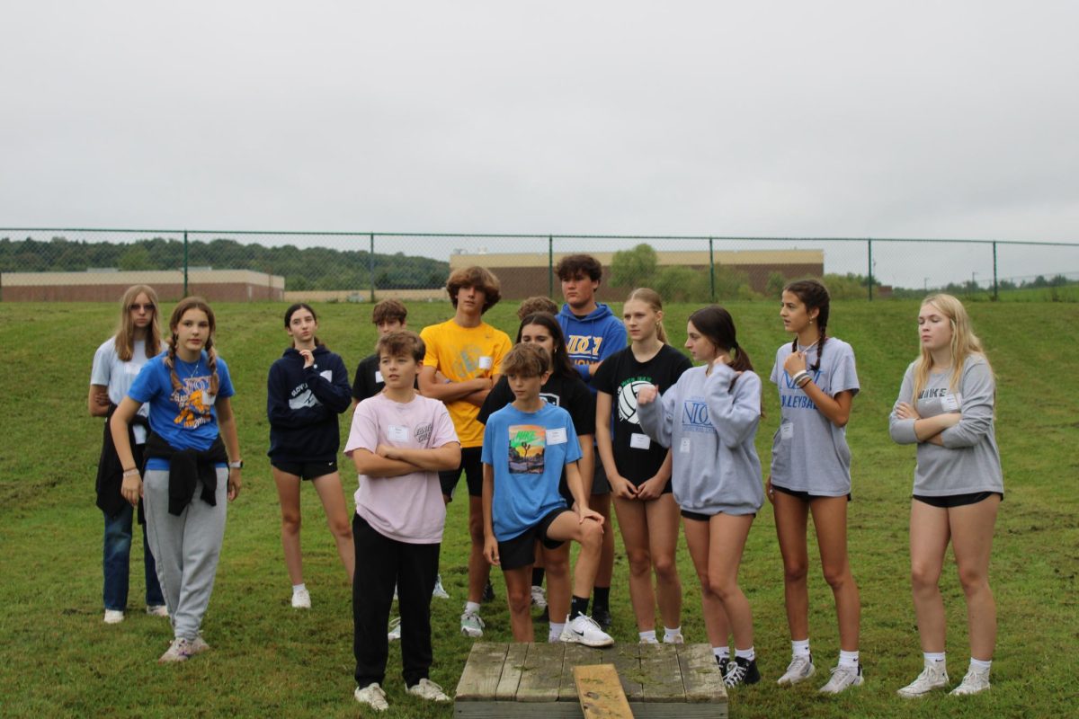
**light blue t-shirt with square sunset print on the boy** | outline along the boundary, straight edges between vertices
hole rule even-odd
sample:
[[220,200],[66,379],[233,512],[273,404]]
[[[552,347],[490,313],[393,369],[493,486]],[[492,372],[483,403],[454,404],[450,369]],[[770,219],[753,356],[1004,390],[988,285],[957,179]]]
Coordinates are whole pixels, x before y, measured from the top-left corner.
[[493,413],[483,430],[484,465],[494,470],[491,521],[500,542],[565,507],[558,493],[562,468],[581,459],[570,413],[554,404],[521,412],[513,404]]

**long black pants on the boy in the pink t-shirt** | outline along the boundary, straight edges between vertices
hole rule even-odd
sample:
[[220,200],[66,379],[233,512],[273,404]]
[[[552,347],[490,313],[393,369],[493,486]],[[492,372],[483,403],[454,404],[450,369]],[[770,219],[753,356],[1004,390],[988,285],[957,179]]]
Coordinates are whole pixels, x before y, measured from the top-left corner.
[[352,518],[356,573],[352,583],[353,653],[356,685],[383,683],[390,640],[390,606],[397,585],[401,613],[401,665],[405,685],[427,678],[431,649],[431,593],[438,573],[439,544],[408,544],[390,539],[358,514]]

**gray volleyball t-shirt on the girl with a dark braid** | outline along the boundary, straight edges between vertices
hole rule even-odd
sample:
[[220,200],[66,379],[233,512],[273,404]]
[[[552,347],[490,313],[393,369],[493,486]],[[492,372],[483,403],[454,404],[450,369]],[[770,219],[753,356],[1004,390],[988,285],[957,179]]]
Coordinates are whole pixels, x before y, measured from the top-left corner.
[[[829,337],[821,350],[816,372],[818,345],[806,351],[806,370],[829,397],[849,390],[858,393],[855,350],[843,340]],[[804,347],[801,349],[805,350]],[[819,497],[850,494],[850,448],[847,433],[825,417],[805,391],[791,382],[783,362],[791,356],[791,343],[776,350],[771,382],[779,387],[780,420],[771,438],[771,483],[794,492]]]

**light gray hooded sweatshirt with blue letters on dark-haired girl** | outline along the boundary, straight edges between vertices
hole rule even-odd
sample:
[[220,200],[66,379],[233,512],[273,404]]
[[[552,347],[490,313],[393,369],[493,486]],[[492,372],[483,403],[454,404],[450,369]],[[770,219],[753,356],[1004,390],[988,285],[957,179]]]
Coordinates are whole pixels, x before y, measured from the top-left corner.
[[721,364],[706,375],[687,370],[655,402],[638,405],[641,427],[671,448],[671,488],[683,510],[755,514],[764,503],[761,460],[753,446],[761,420],[761,378]]

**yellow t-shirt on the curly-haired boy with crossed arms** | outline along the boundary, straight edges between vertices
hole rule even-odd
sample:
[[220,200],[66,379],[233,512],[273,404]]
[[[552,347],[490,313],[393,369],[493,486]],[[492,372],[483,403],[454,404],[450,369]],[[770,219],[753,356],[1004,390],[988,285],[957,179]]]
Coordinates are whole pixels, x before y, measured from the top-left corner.
[[[423,365],[435,368],[453,382],[501,374],[502,359],[513,346],[509,335],[487,322],[469,328],[449,319],[423,328],[420,336],[427,347]],[[464,400],[456,400],[447,402],[446,409],[453,419],[461,446],[481,446],[483,425],[476,419],[479,407]]]

